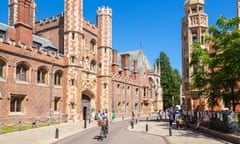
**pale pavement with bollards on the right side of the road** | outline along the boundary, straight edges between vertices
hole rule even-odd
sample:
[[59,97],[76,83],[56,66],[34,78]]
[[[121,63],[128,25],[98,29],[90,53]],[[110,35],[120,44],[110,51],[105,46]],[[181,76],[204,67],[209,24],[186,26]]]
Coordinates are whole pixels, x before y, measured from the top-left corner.
[[[146,132],[146,124],[148,125],[148,132]],[[128,127],[130,131],[143,132],[162,136],[169,144],[232,144],[222,139],[204,135],[201,132],[193,132],[187,129],[172,129],[172,136],[169,136],[169,124],[164,121],[139,121],[134,125]]]

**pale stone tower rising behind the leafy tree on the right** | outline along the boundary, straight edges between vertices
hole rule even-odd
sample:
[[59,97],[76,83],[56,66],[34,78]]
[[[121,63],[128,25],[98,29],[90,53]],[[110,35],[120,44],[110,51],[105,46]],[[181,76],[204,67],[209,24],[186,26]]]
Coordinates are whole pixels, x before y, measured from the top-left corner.
[[208,33],[208,16],[204,13],[204,0],[186,0],[185,16],[182,19],[182,82],[185,96],[185,109],[192,109],[192,99],[197,98],[190,91],[193,68],[190,67],[192,44],[195,40],[205,45],[204,37]]

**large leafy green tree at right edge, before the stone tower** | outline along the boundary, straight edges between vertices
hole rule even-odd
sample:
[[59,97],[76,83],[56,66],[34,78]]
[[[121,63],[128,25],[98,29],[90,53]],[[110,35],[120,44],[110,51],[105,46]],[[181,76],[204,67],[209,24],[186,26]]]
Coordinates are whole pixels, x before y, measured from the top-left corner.
[[[206,41],[210,44],[210,51],[201,49],[194,44],[191,65],[205,72],[197,70],[193,73],[193,88],[206,92],[208,104],[215,106],[219,99],[223,99],[226,106],[235,111],[238,104],[239,88],[236,83],[240,80],[240,30],[239,18],[226,19],[221,16],[216,25],[209,28]],[[210,52],[210,53],[209,53]],[[206,60],[206,61],[204,61]]]

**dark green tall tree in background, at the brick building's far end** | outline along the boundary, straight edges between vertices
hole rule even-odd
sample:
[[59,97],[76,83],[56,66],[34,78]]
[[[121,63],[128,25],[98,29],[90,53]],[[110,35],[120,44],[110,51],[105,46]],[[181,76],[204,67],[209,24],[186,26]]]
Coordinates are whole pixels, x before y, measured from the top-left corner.
[[163,105],[166,109],[179,104],[181,76],[178,70],[171,67],[169,58],[164,52],[160,52],[160,57],[156,62],[160,63]]

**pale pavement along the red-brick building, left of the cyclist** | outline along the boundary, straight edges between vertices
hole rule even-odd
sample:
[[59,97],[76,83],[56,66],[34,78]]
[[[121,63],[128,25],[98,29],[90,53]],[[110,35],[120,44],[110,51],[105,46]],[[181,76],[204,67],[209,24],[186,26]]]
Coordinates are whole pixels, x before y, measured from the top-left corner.
[[[87,123],[87,128],[95,127],[97,123]],[[58,125],[46,126],[41,128],[33,128],[25,131],[12,132],[0,135],[0,144],[51,144],[59,139],[66,138],[77,132],[85,130],[83,123],[69,122]],[[58,138],[56,137],[56,129],[58,128]]]

